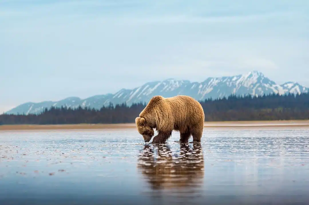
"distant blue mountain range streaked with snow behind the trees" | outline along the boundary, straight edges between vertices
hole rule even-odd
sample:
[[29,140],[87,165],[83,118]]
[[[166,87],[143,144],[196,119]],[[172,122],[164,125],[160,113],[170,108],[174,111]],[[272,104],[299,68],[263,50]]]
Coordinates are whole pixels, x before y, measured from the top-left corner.
[[275,83],[265,77],[263,73],[251,71],[244,75],[235,75],[229,77],[207,78],[203,82],[190,82],[188,80],[166,79],[163,81],[154,81],[146,83],[134,89],[121,89],[115,94],[96,95],[86,99],[79,97],[68,97],[60,101],[43,101],[40,103],[28,102],[19,105],[9,111],[7,114],[29,114],[40,113],[45,108],[71,107],[76,108],[90,107],[100,109],[102,106],[108,106],[111,102],[113,105],[126,102],[127,105],[132,103],[148,102],[152,96],[161,95],[171,97],[176,95],[188,95],[196,100],[205,100],[207,98],[222,98],[224,96],[236,95],[263,95],[270,93],[300,94],[308,92],[306,88],[296,82],[286,82],[282,85]]

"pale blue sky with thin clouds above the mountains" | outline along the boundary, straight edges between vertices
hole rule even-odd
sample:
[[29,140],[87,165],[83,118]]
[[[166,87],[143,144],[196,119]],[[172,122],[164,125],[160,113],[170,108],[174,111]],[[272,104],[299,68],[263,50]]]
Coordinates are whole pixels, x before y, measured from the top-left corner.
[[0,0],[0,113],[258,70],[309,86],[307,0]]

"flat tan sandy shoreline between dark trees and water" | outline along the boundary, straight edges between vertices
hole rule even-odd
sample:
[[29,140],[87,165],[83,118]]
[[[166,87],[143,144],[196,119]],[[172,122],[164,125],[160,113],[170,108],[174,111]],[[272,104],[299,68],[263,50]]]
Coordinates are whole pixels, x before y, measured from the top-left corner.
[[[281,121],[224,121],[205,122],[209,128],[309,128],[309,120]],[[0,131],[5,130],[105,130],[105,129],[136,129],[135,123],[126,124],[62,124],[62,125],[1,125]]]

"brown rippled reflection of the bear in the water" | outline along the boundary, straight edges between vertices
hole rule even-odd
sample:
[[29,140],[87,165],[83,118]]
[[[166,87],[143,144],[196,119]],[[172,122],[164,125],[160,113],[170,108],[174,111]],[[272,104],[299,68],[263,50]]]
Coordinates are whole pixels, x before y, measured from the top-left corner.
[[[197,194],[204,178],[204,156],[200,143],[180,143],[180,152],[172,153],[166,144],[145,145],[138,169],[151,189],[188,196]],[[190,194],[189,194],[190,195]]]

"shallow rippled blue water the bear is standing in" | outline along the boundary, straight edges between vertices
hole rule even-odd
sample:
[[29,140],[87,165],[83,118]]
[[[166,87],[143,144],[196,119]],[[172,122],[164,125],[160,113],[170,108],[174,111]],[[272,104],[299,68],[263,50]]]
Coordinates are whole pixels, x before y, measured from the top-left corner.
[[[0,204],[308,204],[309,129],[0,133]],[[192,138],[191,138],[192,140]]]

